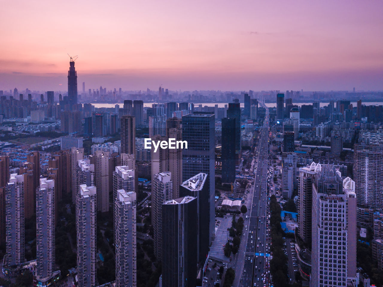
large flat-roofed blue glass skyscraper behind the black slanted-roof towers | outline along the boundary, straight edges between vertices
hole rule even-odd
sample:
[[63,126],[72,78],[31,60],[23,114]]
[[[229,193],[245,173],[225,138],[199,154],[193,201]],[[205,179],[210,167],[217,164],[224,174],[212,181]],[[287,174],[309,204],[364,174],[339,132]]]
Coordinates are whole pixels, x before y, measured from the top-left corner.
[[188,148],[182,151],[182,180],[203,172],[208,174],[206,184],[209,189],[209,235],[214,238],[215,227],[215,154],[214,154],[214,115],[189,114],[182,117],[182,140]]

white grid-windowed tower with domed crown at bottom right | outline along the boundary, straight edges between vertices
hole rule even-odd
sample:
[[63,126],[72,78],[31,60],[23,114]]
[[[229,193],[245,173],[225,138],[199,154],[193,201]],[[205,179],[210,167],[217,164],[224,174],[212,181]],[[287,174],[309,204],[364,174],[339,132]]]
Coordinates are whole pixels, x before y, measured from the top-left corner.
[[315,175],[310,286],[356,286],[356,195],[333,165]]

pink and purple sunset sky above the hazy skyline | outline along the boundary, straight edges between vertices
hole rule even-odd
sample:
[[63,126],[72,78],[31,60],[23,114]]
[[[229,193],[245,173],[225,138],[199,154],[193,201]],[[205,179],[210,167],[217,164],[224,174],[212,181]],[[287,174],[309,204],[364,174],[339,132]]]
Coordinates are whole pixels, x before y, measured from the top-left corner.
[[[382,90],[381,1],[2,3],[0,89]],[[62,84],[62,85],[59,85]]]

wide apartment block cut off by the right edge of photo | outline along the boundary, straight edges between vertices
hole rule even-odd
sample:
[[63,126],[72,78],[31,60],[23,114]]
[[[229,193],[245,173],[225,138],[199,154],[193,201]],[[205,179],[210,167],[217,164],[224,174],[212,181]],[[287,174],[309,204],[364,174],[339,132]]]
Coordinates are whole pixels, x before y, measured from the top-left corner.
[[355,144],[353,174],[358,205],[383,208],[383,145]]

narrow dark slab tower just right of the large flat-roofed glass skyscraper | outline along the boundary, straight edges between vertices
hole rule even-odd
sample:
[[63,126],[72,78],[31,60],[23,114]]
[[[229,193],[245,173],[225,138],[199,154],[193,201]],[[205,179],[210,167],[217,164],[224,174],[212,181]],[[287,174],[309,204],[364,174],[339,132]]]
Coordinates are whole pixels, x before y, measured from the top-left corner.
[[222,182],[236,180],[236,118],[222,119]]

